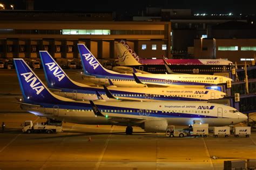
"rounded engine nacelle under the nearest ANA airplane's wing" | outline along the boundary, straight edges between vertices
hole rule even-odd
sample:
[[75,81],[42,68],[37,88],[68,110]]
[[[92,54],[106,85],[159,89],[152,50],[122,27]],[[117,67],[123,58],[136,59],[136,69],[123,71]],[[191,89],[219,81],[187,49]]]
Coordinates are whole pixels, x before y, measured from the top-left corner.
[[147,120],[143,129],[145,132],[165,132],[167,130],[167,120]]

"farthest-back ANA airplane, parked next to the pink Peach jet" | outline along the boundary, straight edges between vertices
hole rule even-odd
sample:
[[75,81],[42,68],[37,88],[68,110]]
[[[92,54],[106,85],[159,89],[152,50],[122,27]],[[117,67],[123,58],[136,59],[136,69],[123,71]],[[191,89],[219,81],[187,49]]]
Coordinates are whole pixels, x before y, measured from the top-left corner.
[[[78,44],[78,50],[84,68],[84,75],[95,84],[109,84],[109,79],[116,86],[172,86],[172,85],[216,85],[231,82],[232,79],[223,76],[212,76],[203,74],[140,74],[138,79],[143,84],[134,80],[133,74],[122,74],[105,69],[92,55],[84,44]],[[127,52],[129,53],[129,52]]]

